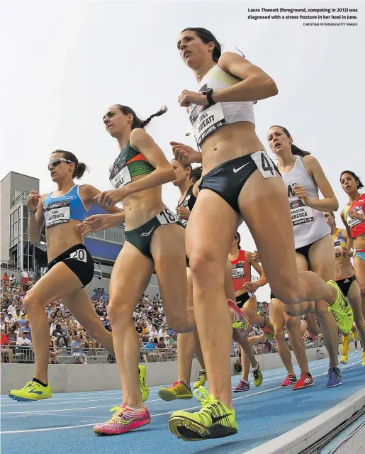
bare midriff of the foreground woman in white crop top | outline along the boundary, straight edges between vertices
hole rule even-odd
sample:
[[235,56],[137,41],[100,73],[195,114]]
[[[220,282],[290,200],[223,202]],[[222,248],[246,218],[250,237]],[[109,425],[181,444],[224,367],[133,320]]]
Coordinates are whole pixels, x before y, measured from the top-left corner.
[[256,135],[254,124],[240,121],[222,126],[201,145],[203,175],[225,161],[264,150]]

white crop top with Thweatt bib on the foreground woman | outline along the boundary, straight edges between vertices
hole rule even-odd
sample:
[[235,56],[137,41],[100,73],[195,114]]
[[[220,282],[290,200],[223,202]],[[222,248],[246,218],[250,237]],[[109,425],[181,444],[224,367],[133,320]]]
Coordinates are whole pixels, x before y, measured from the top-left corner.
[[[230,76],[220,69],[218,65],[201,79],[198,84],[198,92],[213,88],[219,90],[238,84],[240,80]],[[218,128],[238,121],[249,121],[254,124],[254,104],[252,101],[244,102],[218,102],[213,106],[197,106],[191,104],[189,107],[189,119],[192,125],[190,133],[196,138],[200,145],[208,135],[213,134]]]

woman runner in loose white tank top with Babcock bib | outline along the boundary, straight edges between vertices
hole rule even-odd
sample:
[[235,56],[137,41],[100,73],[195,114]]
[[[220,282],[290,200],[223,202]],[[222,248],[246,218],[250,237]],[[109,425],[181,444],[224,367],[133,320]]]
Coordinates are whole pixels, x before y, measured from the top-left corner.
[[[288,191],[298,270],[311,270],[325,281],[334,279],[335,248],[330,226],[323,213],[338,209],[332,187],[318,160],[293,145],[293,139],[286,128],[271,126],[267,139],[278,158],[279,170]],[[322,192],[323,199],[319,198],[318,189]],[[309,311],[312,312],[313,307]],[[323,300],[315,301],[315,313],[330,355],[330,380],[327,387],[337,386],[342,381],[338,368],[336,322]],[[297,336],[301,337],[299,329]],[[303,387],[308,383],[306,378],[302,373]]]

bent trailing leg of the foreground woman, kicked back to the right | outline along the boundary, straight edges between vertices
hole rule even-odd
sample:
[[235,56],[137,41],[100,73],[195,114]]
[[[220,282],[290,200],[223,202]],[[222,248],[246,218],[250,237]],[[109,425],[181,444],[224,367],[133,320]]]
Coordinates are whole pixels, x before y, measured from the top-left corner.
[[[259,171],[254,172],[242,188],[239,205],[276,297],[288,305],[317,299],[333,304],[337,300],[334,287],[314,272],[297,272],[293,226],[283,180],[265,179]],[[278,266],[278,257],[283,266]]]

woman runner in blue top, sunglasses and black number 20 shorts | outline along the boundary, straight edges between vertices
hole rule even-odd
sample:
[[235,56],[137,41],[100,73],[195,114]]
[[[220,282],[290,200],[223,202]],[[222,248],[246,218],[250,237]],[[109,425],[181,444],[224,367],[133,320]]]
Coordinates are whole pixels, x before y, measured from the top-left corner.
[[[74,178],[82,178],[86,165],[68,151],[53,152],[48,170],[57,190],[43,195],[31,191],[27,199],[29,240],[32,244],[38,242],[45,223],[48,265],[47,273],[27,292],[23,301],[32,326],[35,373],[33,380],[22,389],[9,391],[9,397],[18,401],[52,397],[47,377],[50,327],[44,309],[56,299],[62,298],[77,321],[114,355],[111,334],[104,329],[84,289],[93,278],[94,263],[77,228],[100,191],[89,184],[74,184]],[[113,207],[108,211],[120,210]]]

